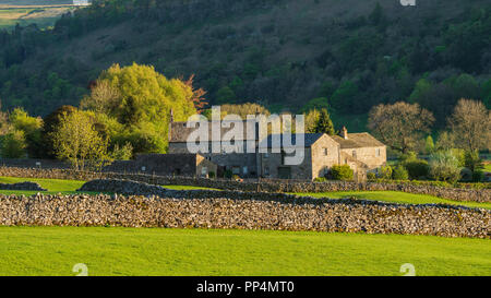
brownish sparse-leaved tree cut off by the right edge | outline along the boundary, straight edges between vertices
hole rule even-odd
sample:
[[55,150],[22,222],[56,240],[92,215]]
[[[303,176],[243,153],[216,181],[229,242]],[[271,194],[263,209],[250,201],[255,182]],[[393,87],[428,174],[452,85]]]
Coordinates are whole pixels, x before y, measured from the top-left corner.
[[474,152],[486,148],[491,142],[491,114],[481,102],[458,100],[447,122],[460,148]]

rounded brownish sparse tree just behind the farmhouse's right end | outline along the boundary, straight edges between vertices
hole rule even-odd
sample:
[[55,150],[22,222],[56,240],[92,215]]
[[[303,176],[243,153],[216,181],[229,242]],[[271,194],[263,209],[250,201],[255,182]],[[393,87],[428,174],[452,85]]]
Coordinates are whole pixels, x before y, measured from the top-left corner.
[[369,129],[393,150],[408,153],[430,131],[433,115],[418,104],[396,103],[371,109]]

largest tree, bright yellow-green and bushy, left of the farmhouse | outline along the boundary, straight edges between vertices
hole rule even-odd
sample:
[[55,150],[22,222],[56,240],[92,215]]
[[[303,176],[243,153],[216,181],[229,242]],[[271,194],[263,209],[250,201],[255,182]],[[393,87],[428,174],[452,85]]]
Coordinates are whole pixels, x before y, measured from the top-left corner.
[[149,65],[113,64],[99,75],[99,87],[84,98],[83,107],[121,123],[124,130],[115,138],[119,144],[130,142],[134,153],[165,153],[171,111],[175,121],[187,121],[202,100],[203,92],[193,90],[192,79],[168,80]]

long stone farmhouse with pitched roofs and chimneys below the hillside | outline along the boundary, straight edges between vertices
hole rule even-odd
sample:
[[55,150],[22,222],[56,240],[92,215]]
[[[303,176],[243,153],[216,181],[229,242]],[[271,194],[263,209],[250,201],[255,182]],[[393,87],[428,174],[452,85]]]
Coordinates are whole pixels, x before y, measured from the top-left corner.
[[[244,120],[244,127],[248,126]],[[254,121],[254,120],[252,120]],[[211,123],[211,122],[209,122]],[[247,146],[247,141],[253,142],[254,153],[246,148],[244,153],[211,153],[214,143],[220,143],[219,139],[230,128],[220,127],[220,136],[216,138],[212,133],[207,141],[208,151],[199,152],[206,160],[217,166],[217,174],[221,176],[224,171],[230,170],[233,175],[241,178],[271,178],[271,179],[300,179],[313,180],[318,177],[325,177],[334,165],[349,165],[355,172],[357,180],[364,180],[368,171],[375,171],[386,164],[386,146],[373,138],[371,134],[348,133],[346,128],[342,129],[339,135],[327,135],[324,133],[303,134],[304,158],[300,165],[289,166],[285,158],[289,156],[285,151],[273,153],[272,140],[274,135],[270,134],[264,140],[259,140],[258,123],[250,123],[254,128],[253,133],[243,130],[241,138],[233,140],[239,144]],[[212,124],[208,124],[209,130]],[[169,150],[170,155],[189,154],[187,141],[195,128],[187,127],[187,122],[171,122],[169,127]],[[249,131],[250,132],[250,131]],[[291,146],[297,146],[292,134]],[[278,136],[280,138],[280,136]],[[233,144],[233,143],[232,143]],[[267,153],[260,153],[260,146],[267,147]],[[298,146],[297,146],[298,147]],[[202,169],[203,176],[206,172]]]

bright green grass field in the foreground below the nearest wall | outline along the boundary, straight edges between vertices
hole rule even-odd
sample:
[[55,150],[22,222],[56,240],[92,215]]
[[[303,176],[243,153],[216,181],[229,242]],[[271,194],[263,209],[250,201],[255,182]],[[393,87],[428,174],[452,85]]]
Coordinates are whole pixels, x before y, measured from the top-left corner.
[[0,275],[491,275],[491,240],[258,230],[0,227]]

